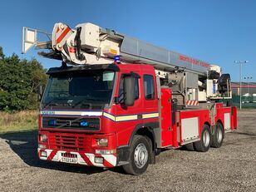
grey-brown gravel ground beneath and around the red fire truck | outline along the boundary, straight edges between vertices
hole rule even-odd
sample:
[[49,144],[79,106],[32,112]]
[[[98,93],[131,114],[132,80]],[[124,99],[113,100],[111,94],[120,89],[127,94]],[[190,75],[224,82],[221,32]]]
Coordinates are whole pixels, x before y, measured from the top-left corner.
[[37,132],[0,135],[1,191],[256,191],[256,110],[207,153],[165,150],[140,176],[37,160]]

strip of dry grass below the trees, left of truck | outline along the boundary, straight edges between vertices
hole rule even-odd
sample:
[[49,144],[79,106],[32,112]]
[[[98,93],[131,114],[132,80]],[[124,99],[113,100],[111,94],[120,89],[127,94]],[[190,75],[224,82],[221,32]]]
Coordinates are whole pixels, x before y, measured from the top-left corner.
[[0,134],[24,130],[36,130],[38,111],[17,113],[0,112]]

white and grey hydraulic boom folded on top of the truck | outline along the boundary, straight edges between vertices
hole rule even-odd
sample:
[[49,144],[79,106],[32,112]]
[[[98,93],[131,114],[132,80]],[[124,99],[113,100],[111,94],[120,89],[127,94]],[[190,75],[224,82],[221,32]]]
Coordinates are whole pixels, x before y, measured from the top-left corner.
[[26,45],[30,43],[49,50],[39,52],[42,57],[62,60],[71,65],[109,64],[114,58],[118,62],[153,65],[165,84],[173,86],[173,94],[179,97],[177,99],[182,105],[187,100],[210,101],[231,98],[232,95],[230,76],[222,74],[220,66],[91,23],[79,24],[76,29],[62,22],[56,23],[52,40],[48,42],[37,42],[37,32],[40,31],[23,28],[23,52],[27,52]]

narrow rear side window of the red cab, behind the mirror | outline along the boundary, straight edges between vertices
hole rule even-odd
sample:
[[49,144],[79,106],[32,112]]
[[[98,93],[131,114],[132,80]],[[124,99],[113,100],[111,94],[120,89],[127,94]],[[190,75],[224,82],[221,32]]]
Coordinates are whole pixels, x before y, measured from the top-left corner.
[[154,100],[155,99],[155,84],[154,78],[150,75],[143,76],[143,84],[144,84],[144,93],[146,100]]

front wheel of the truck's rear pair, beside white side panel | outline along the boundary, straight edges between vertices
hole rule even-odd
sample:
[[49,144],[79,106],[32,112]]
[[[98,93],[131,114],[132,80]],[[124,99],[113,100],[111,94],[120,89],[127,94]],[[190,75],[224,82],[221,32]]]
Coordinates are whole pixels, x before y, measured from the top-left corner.
[[194,142],[194,150],[199,152],[206,152],[209,150],[209,146],[210,146],[210,130],[209,130],[209,126],[204,124],[201,132],[201,139],[199,141]]

